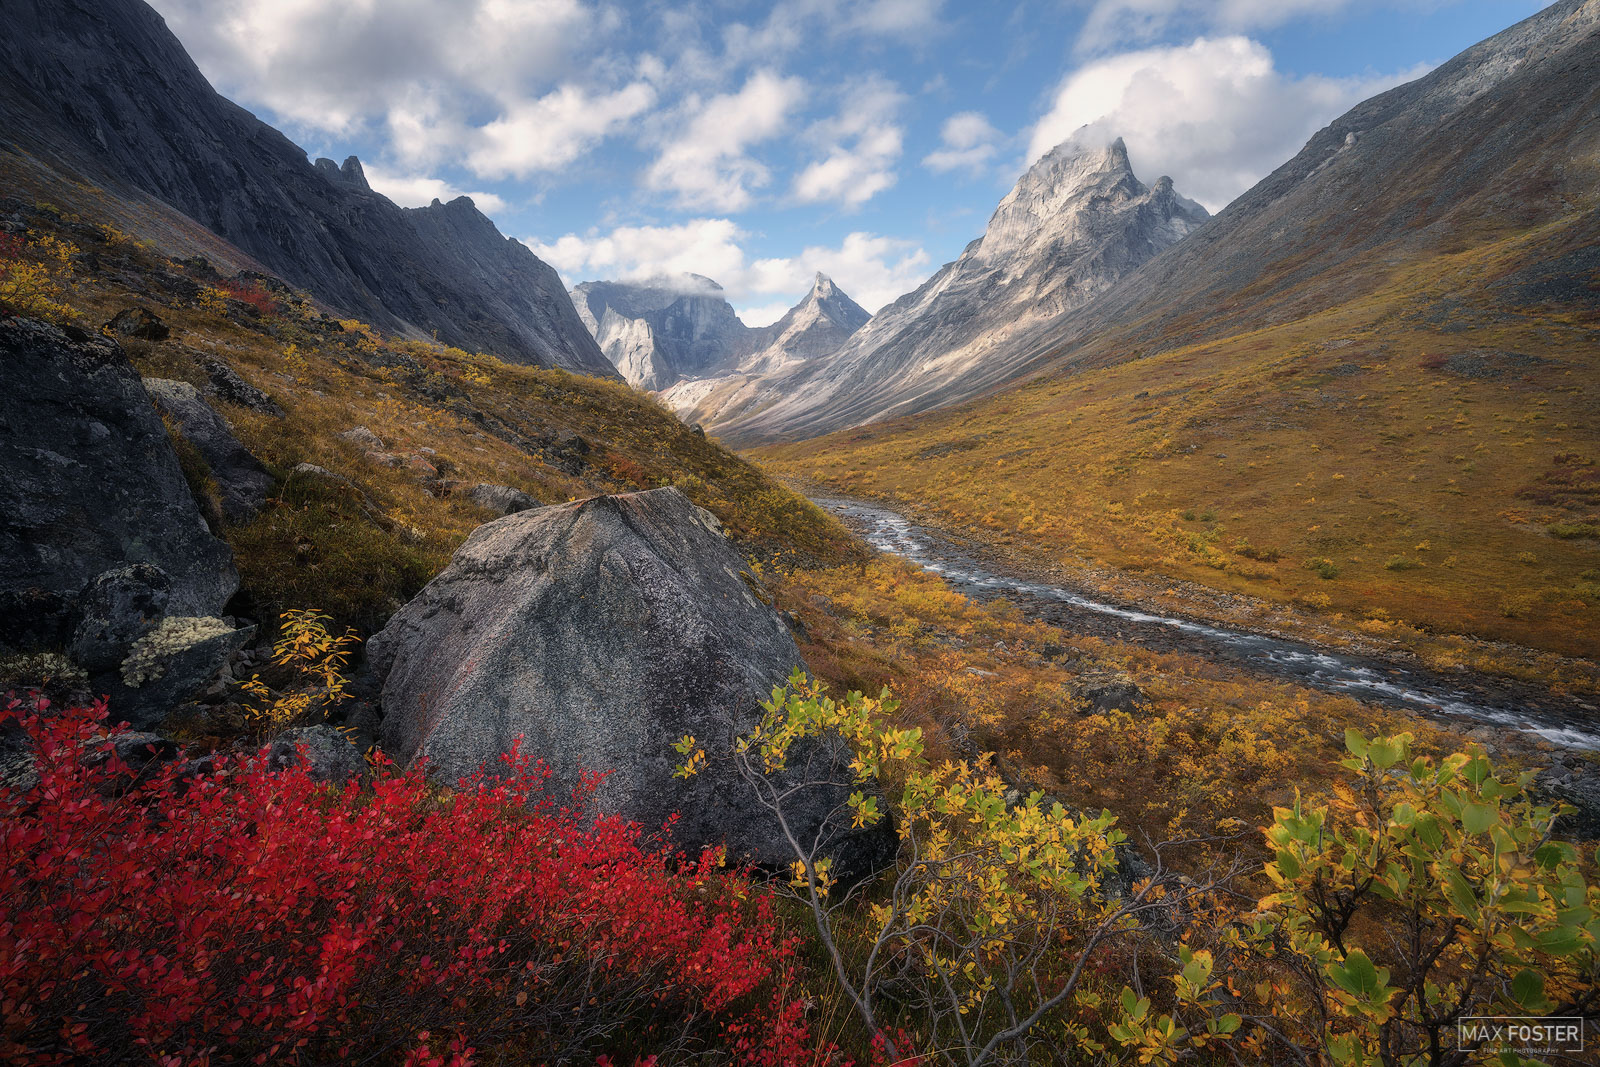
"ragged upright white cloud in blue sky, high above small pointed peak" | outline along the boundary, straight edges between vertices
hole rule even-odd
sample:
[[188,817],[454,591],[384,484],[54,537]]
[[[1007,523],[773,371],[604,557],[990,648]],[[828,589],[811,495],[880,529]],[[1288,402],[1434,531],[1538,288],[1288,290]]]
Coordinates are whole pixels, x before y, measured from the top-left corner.
[[826,155],[795,176],[795,198],[858,208],[893,186],[902,144],[896,115],[904,102],[906,96],[882,78],[846,88],[838,115],[806,131]]

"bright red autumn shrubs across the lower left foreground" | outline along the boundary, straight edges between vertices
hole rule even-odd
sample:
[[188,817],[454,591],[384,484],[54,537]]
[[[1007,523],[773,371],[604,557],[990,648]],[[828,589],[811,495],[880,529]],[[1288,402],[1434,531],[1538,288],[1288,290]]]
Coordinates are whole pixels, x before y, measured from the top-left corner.
[[448,795],[392,766],[136,776],[104,705],[5,715],[38,774],[0,785],[6,1064],[818,1059],[768,897],[554,801],[526,757]]

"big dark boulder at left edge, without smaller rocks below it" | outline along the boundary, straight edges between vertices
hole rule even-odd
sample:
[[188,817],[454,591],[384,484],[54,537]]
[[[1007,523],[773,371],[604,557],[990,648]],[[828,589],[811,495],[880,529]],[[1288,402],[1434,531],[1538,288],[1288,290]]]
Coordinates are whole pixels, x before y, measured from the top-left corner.
[[166,614],[219,616],[238,589],[117,344],[0,322],[0,649],[67,646],[96,579],[141,563]]

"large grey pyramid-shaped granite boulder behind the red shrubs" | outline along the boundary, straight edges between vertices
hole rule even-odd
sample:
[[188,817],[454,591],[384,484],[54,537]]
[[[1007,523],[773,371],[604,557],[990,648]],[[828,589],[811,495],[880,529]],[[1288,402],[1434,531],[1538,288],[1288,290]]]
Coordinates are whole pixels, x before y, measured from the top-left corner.
[[[678,813],[680,848],[726,843],[734,857],[787,864],[776,822],[717,758],[802,662],[754,585],[717,520],[670,488],[478,526],[368,645],[384,750],[400,763],[426,758],[430,774],[456,782],[493,771],[522,737],[554,771],[557,797],[581,771],[606,771],[600,811],[646,829]],[[674,777],[672,744],[685,734],[712,755],[688,781]],[[813,777],[832,781],[792,798],[805,838],[837,817],[850,789],[842,742],[810,758]],[[845,872],[893,856],[888,827],[829,825]]]

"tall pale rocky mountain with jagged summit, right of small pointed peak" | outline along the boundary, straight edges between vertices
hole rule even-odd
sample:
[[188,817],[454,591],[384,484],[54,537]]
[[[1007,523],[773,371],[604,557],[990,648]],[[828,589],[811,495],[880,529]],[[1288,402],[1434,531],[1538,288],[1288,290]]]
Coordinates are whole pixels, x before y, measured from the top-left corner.
[[1206,221],[1168,178],[1146,187],[1122,139],[1062,144],[1000,202],[984,235],[835,354],[768,374],[731,440],[810,437],[963,400],[1016,373],[1005,344],[1082,307]]

